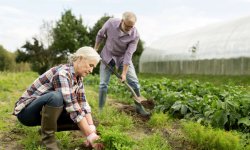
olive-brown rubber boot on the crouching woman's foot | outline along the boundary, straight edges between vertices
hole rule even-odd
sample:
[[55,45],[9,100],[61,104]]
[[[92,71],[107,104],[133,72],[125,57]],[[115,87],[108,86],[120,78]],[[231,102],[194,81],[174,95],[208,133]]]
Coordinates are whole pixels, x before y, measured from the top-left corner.
[[41,134],[42,144],[47,150],[59,150],[55,138],[57,130],[57,120],[62,113],[62,107],[51,107],[45,105],[42,109]]

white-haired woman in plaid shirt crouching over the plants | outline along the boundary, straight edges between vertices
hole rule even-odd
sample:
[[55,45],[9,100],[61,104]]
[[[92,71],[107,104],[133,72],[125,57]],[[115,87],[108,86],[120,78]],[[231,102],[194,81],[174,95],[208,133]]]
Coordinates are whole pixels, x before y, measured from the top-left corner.
[[96,134],[87,102],[82,77],[93,71],[100,61],[91,47],[78,49],[70,63],[49,69],[39,76],[15,104],[14,115],[26,126],[41,125],[42,144],[46,149],[59,149],[55,132],[58,123],[76,124],[92,147],[101,147],[94,141]]

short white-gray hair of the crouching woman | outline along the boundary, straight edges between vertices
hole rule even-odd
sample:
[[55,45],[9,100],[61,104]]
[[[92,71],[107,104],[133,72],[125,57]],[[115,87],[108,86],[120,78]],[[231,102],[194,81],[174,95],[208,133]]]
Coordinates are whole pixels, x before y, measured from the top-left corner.
[[68,61],[72,63],[81,57],[89,60],[96,60],[97,62],[101,60],[100,55],[96,52],[95,49],[89,46],[84,46],[79,48],[74,54],[69,55]]

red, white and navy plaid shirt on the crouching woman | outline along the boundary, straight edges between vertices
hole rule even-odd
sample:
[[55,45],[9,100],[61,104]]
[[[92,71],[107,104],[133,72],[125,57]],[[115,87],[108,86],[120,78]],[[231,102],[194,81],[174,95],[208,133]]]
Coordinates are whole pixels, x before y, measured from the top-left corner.
[[21,112],[32,101],[51,91],[62,93],[65,109],[74,122],[79,122],[85,114],[91,112],[84,94],[82,78],[76,76],[73,64],[65,64],[53,67],[37,78],[16,102],[14,115]]

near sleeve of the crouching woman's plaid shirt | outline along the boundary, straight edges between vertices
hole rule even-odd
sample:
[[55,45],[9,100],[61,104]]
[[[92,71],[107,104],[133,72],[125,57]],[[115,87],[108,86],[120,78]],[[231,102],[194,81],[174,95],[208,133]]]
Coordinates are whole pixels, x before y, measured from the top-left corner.
[[66,106],[65,109],[70,114],[70,118],[77,123],[83,119],[85,112],[82,111],[77,101],[77,96],[74,92],[74,87],[69,76],[70,75],[61,73],[54,79],[53,84],[55,90],[62,93]]

